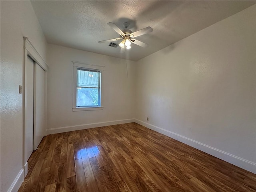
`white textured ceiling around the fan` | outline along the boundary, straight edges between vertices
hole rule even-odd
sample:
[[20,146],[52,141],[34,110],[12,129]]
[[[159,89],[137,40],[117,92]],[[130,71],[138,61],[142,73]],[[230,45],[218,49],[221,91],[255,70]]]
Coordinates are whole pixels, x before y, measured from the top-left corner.
[[[255,1],[31,2],[48,43],[134,61],[255,4]],[[148,47],[132,44],[124,52],[119,46],[99,44],[100,40],[119,37],[108,22],[121,29],[124,22],[129,22],[128,29],[132,32],[152,27],[152,33],[136,38]]]

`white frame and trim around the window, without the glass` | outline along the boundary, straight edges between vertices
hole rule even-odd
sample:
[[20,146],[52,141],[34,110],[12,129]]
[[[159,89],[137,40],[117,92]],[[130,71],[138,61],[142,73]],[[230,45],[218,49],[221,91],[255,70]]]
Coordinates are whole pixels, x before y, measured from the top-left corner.
[[[77,107],[76,98],[77,98],[77,68],[84,68],[88,70],[100,70],[100,95],[99,95],[99,104],[100,106],[88,106],[88,107]],[[103,110],[101,102],[101,88],[102,88],[102,76],[103,76],[104,66],[100,65],[91,65],[84,64],[81,62],[73,61],[73,111],[91,111],[91,110]]]

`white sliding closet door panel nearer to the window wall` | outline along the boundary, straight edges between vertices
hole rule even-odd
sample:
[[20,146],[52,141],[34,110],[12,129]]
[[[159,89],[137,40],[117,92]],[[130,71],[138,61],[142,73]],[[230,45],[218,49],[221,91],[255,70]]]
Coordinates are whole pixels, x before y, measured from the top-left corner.
[[44,137],[44,82],[45,71],[35,62],[34,66],[34,145],[36,150]]

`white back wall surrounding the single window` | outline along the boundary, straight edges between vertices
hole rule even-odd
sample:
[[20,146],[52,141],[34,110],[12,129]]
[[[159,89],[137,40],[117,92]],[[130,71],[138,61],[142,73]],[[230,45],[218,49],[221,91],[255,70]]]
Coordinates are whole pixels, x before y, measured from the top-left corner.
[[[110,124],[118,124],[126,122],[122,120],[134,118],[135,62],[127,61],[127,78],[126,61],[123,59],[52,44],[49,44],[47,54],[50,66],[47,90],[48,134],[105,125],[98,124],[100,122],[116,121]],[[103,110],[72,111],[72,61],[105,66],[102,76]]]

